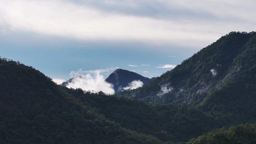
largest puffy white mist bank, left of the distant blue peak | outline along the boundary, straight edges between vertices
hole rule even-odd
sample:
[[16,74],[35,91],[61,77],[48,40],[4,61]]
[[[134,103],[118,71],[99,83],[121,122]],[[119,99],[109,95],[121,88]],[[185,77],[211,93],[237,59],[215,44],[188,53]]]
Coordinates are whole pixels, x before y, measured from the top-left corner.
[[85,91],[102,91],[107,94],[115,94],[113,85],[107,83],[101,72],[107,72],[106,70],[92,70],[92,71],[71,71],[70,76],[74,79],[67,84],[67,88],[81,88]]

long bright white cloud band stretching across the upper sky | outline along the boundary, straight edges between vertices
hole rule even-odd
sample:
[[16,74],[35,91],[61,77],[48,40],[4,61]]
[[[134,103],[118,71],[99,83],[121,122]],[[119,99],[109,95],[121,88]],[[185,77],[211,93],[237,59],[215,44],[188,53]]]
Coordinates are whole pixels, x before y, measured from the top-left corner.
[[[162,4],[168,5],[168,1],[162,1]],[[182,3],[174,4],[184,7]],[[188,43],[190,46],[198,46],[200,43],[201,46],[202,43],[207,45],[229,31],[241,30],[236,28],[240,24],[213,21],[208,24],[205,23],[208,21],[198,19],[159,19],[149,15],[110,12],[89,4],[61,0],[1,0],[0,12],[1,24],[12,31],[80,40],[136,40],[179,45]],[[223,25],[229,25],[229,30],[223,29]],[[216,28],[213,29],[213,26]]]

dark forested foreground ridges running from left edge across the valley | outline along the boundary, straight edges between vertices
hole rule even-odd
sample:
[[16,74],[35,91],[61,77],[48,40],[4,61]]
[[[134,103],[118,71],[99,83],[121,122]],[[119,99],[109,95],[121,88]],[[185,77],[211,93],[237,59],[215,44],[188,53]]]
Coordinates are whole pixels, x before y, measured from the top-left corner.
[[250,119],[227,116],[221,105],[205,112],[201,108],[209,105],[147,105],[68,89],[33,67],[7,59],[0,59],[0,85],[3,144],[173,144],[255,120],[251,113]]

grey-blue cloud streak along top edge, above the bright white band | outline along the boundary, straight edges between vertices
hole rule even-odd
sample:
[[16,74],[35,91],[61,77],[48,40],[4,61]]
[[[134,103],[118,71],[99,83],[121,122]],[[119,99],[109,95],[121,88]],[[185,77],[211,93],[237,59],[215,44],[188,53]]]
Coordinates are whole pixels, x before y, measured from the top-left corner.
[[[67,0],[72,1],[73,0]],[[95,9],[158,19],[236,21],[255,12],[254,0],[76,0]],[[229,15],[229,16],[226,16]],[[248,16],[245,16],[245,18]],[[249,19],[247,19],[249,20]]]

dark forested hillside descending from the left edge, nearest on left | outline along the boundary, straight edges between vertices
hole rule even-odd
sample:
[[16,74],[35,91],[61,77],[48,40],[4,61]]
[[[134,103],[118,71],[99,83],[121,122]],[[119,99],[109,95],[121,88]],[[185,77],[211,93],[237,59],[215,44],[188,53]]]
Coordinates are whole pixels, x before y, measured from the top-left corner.
[[0,59],[1,144],[155,144],[121,128],[32,67]]

